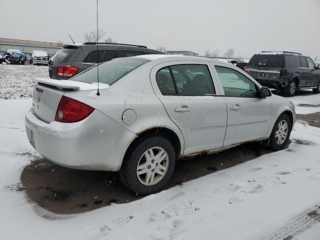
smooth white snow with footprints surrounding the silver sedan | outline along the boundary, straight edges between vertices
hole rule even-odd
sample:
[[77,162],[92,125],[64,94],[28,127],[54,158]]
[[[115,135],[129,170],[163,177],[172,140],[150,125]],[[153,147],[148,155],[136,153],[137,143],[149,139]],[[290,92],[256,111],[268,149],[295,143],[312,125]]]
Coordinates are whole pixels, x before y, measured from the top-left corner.
[[[320,203],[320,129],[296,123],[287,149],[130,203],[48,212],[20,185],[33,159],[23,153],[34,152],[23,124],[30,106],[31,99],[0,101],[0,239],[283,239],[310,227],[294,219],[312,221]],[[294,237],[318,239],[319,223],[310,225]],[[283,229],[290,229],[283,238],[263,238]]]

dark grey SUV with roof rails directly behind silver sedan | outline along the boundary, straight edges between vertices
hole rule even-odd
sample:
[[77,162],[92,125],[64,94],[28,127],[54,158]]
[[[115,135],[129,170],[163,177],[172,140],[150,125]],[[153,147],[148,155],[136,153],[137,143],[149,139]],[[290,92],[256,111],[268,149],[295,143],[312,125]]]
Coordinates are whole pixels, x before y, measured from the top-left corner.
[[[98,44],[98,50],[96,44]],[[64,44],[49,60],[49,76],[58,80],[69,79],[95,65],[97,57],[99,62],[103,62],[112,58],[143,54],[165,53],[149,49],[146,46],[119,43],[85,42],[83,44]]]

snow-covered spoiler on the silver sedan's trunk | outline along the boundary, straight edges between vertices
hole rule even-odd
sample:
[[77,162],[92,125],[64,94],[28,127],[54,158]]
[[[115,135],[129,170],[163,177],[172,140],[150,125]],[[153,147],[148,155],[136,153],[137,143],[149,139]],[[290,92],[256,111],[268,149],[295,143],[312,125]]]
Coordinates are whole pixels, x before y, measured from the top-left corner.
[[[35,82],[55,86],[59,89],[74,89],[79,91],[96,90],[97,82],[86,83],[81,81],[71,80],[55,80],[50,78],[35,78]],[[99,89],[106,89],[109,85],[105,83],[99,83]]]

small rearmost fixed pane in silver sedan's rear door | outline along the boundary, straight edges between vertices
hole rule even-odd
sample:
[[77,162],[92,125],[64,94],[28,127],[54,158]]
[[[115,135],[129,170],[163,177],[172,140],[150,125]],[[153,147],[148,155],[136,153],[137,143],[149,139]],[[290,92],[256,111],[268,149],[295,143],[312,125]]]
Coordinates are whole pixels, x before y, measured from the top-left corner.
[[160,69],[155,76],[162,95],[176,94],[169,67]]

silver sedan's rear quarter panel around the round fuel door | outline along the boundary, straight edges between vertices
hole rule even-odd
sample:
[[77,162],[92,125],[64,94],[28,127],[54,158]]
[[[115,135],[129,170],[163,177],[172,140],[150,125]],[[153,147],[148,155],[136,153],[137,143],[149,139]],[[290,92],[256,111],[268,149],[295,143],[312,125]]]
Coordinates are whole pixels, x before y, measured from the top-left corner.
[[[161,101],[156,97],[150,82],[150,70],[153,64],[135,69],[113,83],[105,90],[100,90],[100,95],[94,91],[72,91],[65,95],[82,101],[101,111],[122,126],[133,132],[136,137],[145,130],[165,127],[175,132],[181,144],[183,152],[183,135],[180,129],[171,121]],[[127,125],[122,120],[122,114],[126,109],[132,109],[136,113],[133,124]],[[133,139],[129,139],[132,142]]]

